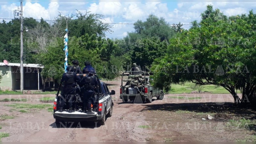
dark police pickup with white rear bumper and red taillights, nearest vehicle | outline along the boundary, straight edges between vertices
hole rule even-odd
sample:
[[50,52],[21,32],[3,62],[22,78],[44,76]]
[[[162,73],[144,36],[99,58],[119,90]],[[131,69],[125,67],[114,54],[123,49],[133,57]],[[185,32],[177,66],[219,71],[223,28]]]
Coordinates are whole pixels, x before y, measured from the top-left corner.
[[[56,124],[65,121],[72,122],[81,122],[81,121],[93,121],[99,122],[100,125],[104,125],[106,121],[106,117],[112,116],[113,111],[113,101],[111,95],[115,95],[115,91],[109,92],[107,85],[104,82],[100,82],[99,77],[97,77],[99,93],[95,93],[94,96],[97,97],[96,100],[96,109],[97,111],[92,111],[94,114],[86,114],[82,112],[81,107],[83,106],[83,102],[80,101],[78,103],[78,110],[72,113],[68,113],[68,108],[63,108],[63,112],[59,112],[60,108],[60,96],[59,91],[56,94],[56,98],[53,104],[53,118],[55,118]],[[59,89],[60,90],[60,89]],[[82,99],[83,100],[83,99]],[[65,109],[65,110],[64,110]]]

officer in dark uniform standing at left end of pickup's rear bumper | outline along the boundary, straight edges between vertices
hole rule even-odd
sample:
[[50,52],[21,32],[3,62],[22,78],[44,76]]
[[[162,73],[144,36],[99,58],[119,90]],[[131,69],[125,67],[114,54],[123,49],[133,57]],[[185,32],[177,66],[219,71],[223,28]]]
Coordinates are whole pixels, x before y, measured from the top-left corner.
[[[63,111],[63,107],[66,102],[68,102],[69,113],[72,111],[73,97],[76,91],[77,82],[81,80],[79,76],[76,76],[75,69],[72,66],[67,67],[67,73],[64,73],[61,78],[61,83],[63,88],[61,91],[61,101],[60,101],[60,112]],[[68,100],[67,100],[68,99]]]

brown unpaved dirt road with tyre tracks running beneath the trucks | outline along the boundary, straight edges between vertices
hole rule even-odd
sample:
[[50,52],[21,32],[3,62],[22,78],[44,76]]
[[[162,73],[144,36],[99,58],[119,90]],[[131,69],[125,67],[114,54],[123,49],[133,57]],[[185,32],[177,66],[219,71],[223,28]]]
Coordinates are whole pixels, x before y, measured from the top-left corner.
[[[41,97],[55,95],[0,95],[4,98],[27,98],[27,102],[0,102],[0,114],[14,116],[0,119],[0,132],[10,136],[3,142],[146,142],[146,141],[230,141],[242,137],[244,132],[234,132],[220,127],[225,121],[202,121],[208,114],[227,112],[233,98],[229,94],[169,94],[164,100],[148,104],[122,103],[119,99],[120,80],[108,81],[109,90],[115,90],[112,117],[104,126],[96,123],[69,123],[56,125],[51,109],[29,109],[20,112],[12,103],[42,104]],[[183,96],[184,99],[175,99]],[[189,98],[189,99],[187,99]],[[156,99],[156,98],[155,98]],[[225,102],[225,103],[223,103]],[[52,103],[44,103],[50,104]],[[19,107],[22,108],[22,107]],[[234,115],[230,111],[230,115]],[[237,115],[236,115],[237,116]],[[242,115],[239,115],[242,116]],[[231,116],[228,115],[229,118]],[[195,123],[196,122],[196,123]],[[196,126],[195,126],[196,125]],[[220,133],[221,132],[221,133]],[[208,134],[207,134],[208,133]],[[223,134],[227,135],[223,136]],[[202,137],[204,136],[204,137]]]

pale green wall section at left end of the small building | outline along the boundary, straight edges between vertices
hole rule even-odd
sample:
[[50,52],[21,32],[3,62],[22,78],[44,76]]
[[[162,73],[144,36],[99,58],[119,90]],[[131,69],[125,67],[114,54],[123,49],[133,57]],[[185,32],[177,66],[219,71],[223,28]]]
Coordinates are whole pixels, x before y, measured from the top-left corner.
[[0,81],[1,90],[12,90],[12,72],[10,66],[0,66],[0,75],[2,80]]

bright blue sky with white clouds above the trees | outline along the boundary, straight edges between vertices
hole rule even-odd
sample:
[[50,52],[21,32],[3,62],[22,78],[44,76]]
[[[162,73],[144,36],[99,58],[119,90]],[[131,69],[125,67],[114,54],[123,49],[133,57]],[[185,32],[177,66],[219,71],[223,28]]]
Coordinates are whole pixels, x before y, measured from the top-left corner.
[[[104,15],[102,22],[118,23],[112,25],[112,33],[106,33],[109,38],[122,38],[127,35],[127,32],[134,31],[133,25],[124,23],[134,23],[137,20],[146,20],[149,14],[154,14],[157,17],[163,17],[169,24],[184,24],[183,28],[188,29],[190,22],[200,21],[200,14],[206,10],[208,4],[213,5],[213,8],[220,9],[227,16],[247,14],[250,10],[256,10],[256,2],[239,0],[224,2],[211,2],[209,0],[142,0],[142,1],[127,1],[127,0],[97,0],[97,1],[82,1],[68,2],[70,0],[45,0],[43,2],[31,0],[23,1],[23,16],[33,17],[34,19],[54,20],[61,12],[62,15],[75,14],[76,10],[80,12],[90,11]],[[20,6],[19,1],[1,1],[0,0],[0,21],[1,18],[13,19],[13,10]],[[8,21],[8,20],[5,20]],[[64,31],[64,30],[63,30]]]

